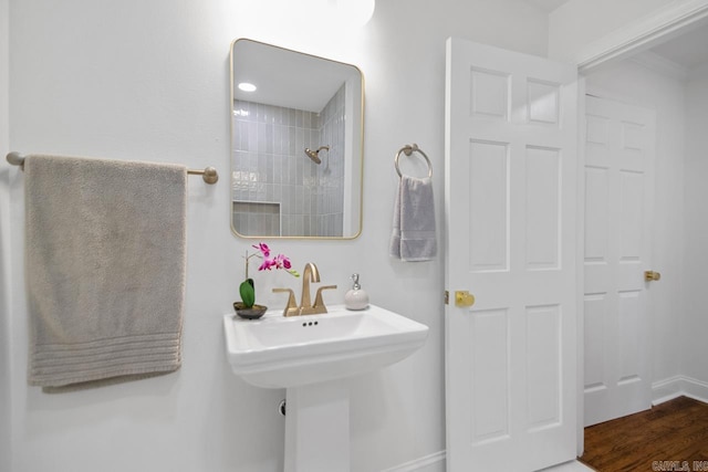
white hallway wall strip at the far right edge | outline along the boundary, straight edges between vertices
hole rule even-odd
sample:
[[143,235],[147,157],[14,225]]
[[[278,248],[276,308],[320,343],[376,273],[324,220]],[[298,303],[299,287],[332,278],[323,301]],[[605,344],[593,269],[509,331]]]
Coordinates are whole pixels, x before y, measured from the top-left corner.
[[678,344],[681,346],[681,374],[702,384],[708,392],[708,310],[706,266],[708,266],[708,64],[691,71],[686,88],[686,167],[685,167],[685,311]]

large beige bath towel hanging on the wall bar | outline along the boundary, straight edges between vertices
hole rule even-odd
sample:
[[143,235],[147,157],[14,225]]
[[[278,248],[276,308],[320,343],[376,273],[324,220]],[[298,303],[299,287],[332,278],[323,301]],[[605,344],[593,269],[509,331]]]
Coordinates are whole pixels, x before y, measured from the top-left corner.
[[187,169],[28,156],[24,170],[30,385],[179,368]]

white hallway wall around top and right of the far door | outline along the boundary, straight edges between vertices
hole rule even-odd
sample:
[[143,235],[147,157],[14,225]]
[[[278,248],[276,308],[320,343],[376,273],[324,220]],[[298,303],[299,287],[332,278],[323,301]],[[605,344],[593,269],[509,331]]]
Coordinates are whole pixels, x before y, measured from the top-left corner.
[[[656,109],[657,143],[652,266],[662,281],[649,285],[654,355],[654,381],[679,374],[683,340],[679,340],[685,310],[684,273],[684,155],[685,84],[655,73],[632,61],[624,61],[589,75],[587,91],[638,106]],[[689,220],[690,218],[686,218]],[[689,259],[689,258],[687,258]],[[660,396],[662,394],[658,394]]]

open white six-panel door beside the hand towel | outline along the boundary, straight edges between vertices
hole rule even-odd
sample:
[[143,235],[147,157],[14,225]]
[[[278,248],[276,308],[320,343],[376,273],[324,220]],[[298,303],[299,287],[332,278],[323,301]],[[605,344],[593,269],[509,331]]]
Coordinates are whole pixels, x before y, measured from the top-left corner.
[[447,470],[534,471],[575,458],[576,70],[450,39],[446,75]]

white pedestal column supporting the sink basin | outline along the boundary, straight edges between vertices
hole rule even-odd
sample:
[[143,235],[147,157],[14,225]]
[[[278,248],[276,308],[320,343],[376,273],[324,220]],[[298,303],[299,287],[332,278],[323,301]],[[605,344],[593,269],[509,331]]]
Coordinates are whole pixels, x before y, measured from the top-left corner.
[[344,380],[288,388],[285,472],[350,471],[350,390]]

